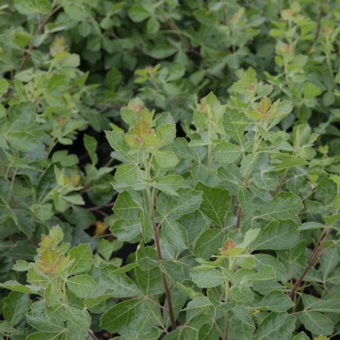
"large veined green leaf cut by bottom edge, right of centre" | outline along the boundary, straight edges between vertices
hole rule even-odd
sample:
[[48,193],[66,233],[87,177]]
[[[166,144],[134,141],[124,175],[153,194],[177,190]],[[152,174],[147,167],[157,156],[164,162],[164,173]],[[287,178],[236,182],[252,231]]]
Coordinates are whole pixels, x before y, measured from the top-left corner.
[[254,340],[289,340],[295,329],[296,317],[286,312],[270,313],[260,323]]

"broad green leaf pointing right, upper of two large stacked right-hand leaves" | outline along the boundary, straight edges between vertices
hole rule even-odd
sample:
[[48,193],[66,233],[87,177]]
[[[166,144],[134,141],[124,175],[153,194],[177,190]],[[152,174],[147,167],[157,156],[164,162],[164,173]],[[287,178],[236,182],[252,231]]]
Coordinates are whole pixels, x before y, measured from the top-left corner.
[[292,192],[280,192],[262,211],[256,211],[254,219],[287,220],[296,216],[304,207],[301,198]]

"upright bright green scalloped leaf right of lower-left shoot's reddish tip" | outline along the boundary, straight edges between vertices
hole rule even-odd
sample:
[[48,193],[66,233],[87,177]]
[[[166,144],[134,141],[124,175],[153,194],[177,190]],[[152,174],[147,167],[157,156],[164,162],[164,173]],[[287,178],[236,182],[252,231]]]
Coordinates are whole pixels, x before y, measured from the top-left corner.
[[69,250],[68,256],[73,259],[73,263],[69,268],[69,274],[79,274],[88,272],[93,264],[92,252],[89,244],[80,244]]

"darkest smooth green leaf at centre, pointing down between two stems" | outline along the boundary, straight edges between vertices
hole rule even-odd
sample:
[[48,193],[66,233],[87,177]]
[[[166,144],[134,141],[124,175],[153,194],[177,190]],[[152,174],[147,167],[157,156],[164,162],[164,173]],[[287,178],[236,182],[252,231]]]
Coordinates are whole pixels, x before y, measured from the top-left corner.
[[229,191],[218,187],[208,187],[202,182],[196,184],[195,190],[203,192],[203,201],[200,205],[200,210],[222,227],[224,225],[225,215],[229,210]]

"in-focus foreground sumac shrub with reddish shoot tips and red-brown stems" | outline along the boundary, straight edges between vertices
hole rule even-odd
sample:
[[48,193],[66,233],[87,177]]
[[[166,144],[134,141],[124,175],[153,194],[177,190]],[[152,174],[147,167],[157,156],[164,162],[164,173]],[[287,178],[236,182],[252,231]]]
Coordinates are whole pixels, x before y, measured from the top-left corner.
[[337,332],[339,175],[328,172],[326,149],[314,157],[318,135],[308,125],[277,127],[290,102],[272,102],[252,69],[242,79],[234,87],[245,95],[227,105],[212,93],[196,104],[187,138],[137,98],[122,108],[130,128],[106,132],[121,162],[106,222],[119,241],[138,243],[136,253],[120,267],[109,241],[96,255],[87,244],[68,250],[53,227],[35,263],[15,265],[28,285],[1,285],[13,290],[8,334],[30,333],[25,323],[30,340],[100,329],[117,339]]

